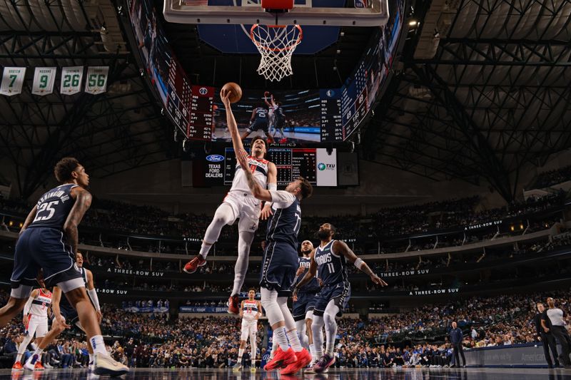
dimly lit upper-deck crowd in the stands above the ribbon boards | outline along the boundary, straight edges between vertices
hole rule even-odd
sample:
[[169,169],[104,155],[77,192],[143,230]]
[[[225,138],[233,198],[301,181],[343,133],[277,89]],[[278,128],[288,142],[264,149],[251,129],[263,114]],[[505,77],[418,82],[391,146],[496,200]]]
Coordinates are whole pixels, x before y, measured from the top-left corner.
[[[310,215],[304,215],[300,229],[300,238],[313,238],[315,230],[325,221],[332,222],[333,225],[338,227],[340,236],[345,239],[355,237],[395,237],[427,232],[429,230],[461,229],[462,227],[484,221],[526,215],[556,205],[562,205],[564,196],[564,193],[558,192],[537,199],[532,197],[522,202],[512,202],[509,205],[492,210],[477,210],[479,198],[466,197],[458,200],[429,202],[422,205],[390,207],[365,216],[338,215],[324,218],[323,216],[311,217]],[[0,210],[9,210],[26,215],[29,207],[26,207],[25,202],[2,200],[0,201]],[[173,237],[179,240],[181,238],[193,238],[200,242],[210,222],[211,216],[209,215],[188,213],[169,215],[168,212],[158,207],[95,199],[90,210],[86,213],[81,227],[122,232],[130,235]],[[262,222],[258,228],[258,238],[262,240],[264,233],[265,223]],[[235,229],[225,227],[221,232],[220,240],[231,239],[234,235]],[[443,242],[440,247],[458,245],[459,242],[463,242],[463,237],[456,236],[448,242]],[[121,242],[115,242],[115,246],[117,244],[123,249],[146,252],[184,253],[185,249],[180,244],[173,245],[168,240],[162,242],[161,245],[150,245],[147,240],[137,239],[136,237],[132,237],[130,240],[124,238]],[[434,245],[434,242],[418,247],[410,247],[409,249],[426,248],[430,247],[430,244]],[[405,249],[407,245],[404,245]],[[224,248],[219,247],[219,249],[222,250],[219,255],[223,255]],[[391,252],[399,251],[393,250]]]

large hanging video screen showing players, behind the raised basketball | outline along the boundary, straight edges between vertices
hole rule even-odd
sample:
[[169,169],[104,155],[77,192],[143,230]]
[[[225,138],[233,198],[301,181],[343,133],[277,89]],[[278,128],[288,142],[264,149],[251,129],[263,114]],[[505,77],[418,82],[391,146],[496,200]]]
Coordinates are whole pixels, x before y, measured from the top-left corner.
[[[223,108],[218,98],[216,106]],[[318,90],[248,91],[233,111],[243,138],[261,136],[276,143],[321,140]],[[216,120],[216,140],[231,141],[222,119]]]

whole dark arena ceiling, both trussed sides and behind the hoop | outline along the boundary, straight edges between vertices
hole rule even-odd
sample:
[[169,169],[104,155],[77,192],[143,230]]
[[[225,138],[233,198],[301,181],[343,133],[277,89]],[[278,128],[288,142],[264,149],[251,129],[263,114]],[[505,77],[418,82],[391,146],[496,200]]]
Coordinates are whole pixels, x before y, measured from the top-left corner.
[[[0,160],[17,169],[24,196],[46,183],[62,155],[76,155],[104,177],[180,153],[141,76],[129,20],[118,16],[124,4],[114,1],[0,3],[2,66],[111,67],[104,95],[31,96],[30,79],[22,95],[0,96]],[[395,76],[360,135],[361,157],[434,180],[485,179],[512,199],[522,165],[571,148],[570,1],[434,0],[413,8],[420,27],[409,31]],[[216,51],[192,26],[167,24],[166,31],[197,83],[236,81],[233,68],[258,64],[256,55]],[[318,55],[295,57],[296,76],[284,86],[338,86],[369,37],[367,29],[343,29]],[[253,88],[265,86],[255,73],[239,75]]]

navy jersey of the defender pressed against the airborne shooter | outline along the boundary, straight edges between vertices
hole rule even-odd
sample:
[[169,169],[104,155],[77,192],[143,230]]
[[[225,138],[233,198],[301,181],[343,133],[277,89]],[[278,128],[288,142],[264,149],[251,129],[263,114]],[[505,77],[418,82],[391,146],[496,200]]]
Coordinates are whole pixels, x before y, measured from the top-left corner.
[[283,242],[298,250],[298,232],[301,226],[301,207],[298,197],[285,190],[271,191],[274,210],[268,222],[266,240]]

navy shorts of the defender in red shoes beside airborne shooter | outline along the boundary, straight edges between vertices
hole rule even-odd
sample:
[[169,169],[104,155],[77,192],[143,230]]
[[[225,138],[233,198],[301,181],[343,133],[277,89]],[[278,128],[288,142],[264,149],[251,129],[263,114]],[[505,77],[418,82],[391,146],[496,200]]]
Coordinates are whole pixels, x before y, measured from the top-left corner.
[[260,286],[277,290],[278,297],[290,297],[298,267],[298,252],[294,247],[284,242],[270,242],[263,254]]

